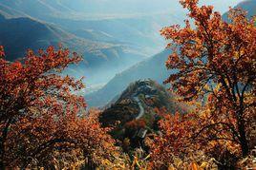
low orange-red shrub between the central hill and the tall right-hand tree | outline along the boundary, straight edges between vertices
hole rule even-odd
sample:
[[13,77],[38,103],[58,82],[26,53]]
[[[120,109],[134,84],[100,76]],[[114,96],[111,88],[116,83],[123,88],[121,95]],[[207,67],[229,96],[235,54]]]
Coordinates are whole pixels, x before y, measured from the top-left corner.
[[199,128],[198,115],[189,113],[165,114],[160,120],[160,135],[148,138],[150,147],[149,165],[156,169],[211,169],[216,163],[203,152],[202,143],[192,140]]

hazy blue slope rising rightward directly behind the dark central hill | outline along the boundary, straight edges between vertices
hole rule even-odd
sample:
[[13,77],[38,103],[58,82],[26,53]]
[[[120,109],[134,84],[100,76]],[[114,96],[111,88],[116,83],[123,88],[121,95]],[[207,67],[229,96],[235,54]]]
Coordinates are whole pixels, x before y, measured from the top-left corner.
[[120,94],[127,85],[139,79],[152,79],[162,83],[169,75],[165,68],[165,61],[170,53],[164,50],[139,64],[117,74],[107,85],[96,92],[85,96],[90,106],[103,106]]

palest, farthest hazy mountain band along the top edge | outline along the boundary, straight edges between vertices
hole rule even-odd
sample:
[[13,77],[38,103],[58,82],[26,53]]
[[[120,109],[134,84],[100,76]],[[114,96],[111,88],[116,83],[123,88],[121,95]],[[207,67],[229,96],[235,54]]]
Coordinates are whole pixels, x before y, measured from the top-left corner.
[[[201,0],[200,2],[201,4],[212,4],[218,10],[224,11],[228,6],[233,6],[241,0]],[[0,0],[0,3],[37,17],[68,16],[70,14],[126,16],[127,14],[181,9],[178,0]]]

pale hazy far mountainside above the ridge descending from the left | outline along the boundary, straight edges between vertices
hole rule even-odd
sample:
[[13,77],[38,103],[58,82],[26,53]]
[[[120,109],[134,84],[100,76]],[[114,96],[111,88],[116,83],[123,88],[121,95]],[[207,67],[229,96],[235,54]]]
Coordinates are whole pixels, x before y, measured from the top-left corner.
[[[235,1],[221,3],[220,0],[202,0],[201,4],[213,4],[223,10]],[[32,17],[53,22],[77,36],[86,33],[77,33],[81,29],[104,32],[115,37],[118,43],[132,44],[147,54],[157,53],[162,48],[160,28],[181,24],[184,19],[184,10],[178,0],[0,0],[0,3]],[[113,42],[113,38],[101,37],[100,33],[95,37],[93,40]]]

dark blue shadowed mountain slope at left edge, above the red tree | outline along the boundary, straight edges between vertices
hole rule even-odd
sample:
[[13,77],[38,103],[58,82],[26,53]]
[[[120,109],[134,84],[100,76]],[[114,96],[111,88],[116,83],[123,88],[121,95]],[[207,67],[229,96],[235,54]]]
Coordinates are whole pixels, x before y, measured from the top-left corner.
[[20,58],[27,48],[56,45],[68,35],[30,18],[3,18],[0,21],[0,44],[5,47],[9,60]]

